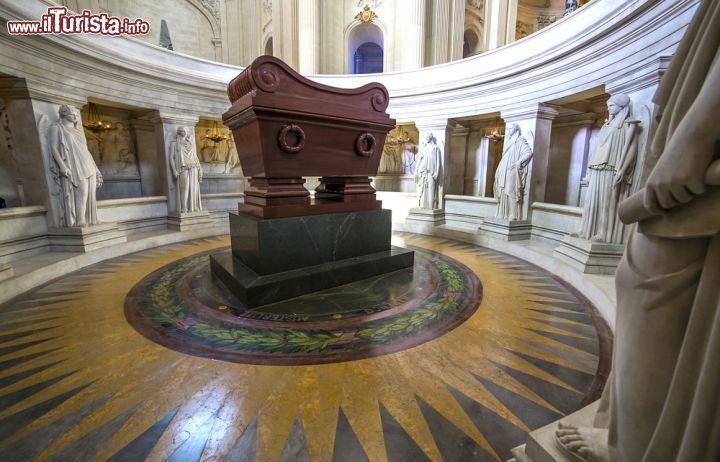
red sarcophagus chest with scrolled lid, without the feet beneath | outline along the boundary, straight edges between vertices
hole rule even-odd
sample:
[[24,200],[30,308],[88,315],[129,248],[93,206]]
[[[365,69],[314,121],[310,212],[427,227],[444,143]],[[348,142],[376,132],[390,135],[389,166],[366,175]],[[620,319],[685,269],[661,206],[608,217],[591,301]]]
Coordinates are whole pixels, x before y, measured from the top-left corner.
[[395,121],[380,83],[335,88],[261,56],[228,85],[223,122],[245,175],[374,176]]

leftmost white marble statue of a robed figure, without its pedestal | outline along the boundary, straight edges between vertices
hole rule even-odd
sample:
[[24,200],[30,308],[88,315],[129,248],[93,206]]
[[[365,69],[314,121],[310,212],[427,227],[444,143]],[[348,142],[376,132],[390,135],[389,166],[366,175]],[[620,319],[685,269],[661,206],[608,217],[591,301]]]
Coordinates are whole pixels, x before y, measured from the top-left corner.
[[90,226],[99,223],[95,190],[103,177],[88,151],[78,116],[70,106],[60,106],[57,123],[49,128],[51,170],[60,189],[60,226]]

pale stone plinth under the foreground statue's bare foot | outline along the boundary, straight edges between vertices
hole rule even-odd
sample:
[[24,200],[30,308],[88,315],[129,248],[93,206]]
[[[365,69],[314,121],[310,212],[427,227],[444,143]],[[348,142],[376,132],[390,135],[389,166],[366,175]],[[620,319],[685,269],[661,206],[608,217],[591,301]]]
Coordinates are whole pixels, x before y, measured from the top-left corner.
[[508,462],[569,462],[570,459],[555,443],[555,430],[559,423],[592,427],[598,404],[599,401],[595,401],[569,416],[530,432],[527,442],[511,451],[515,457]]

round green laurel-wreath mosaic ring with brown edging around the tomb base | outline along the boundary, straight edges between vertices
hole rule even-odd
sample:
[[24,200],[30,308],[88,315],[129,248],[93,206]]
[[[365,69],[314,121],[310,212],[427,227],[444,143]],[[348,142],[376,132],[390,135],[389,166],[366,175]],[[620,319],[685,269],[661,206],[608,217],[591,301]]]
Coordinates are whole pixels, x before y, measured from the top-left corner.
[[165,347],[237,363],[323,364],[394,353],[454,329],[482,299],[480,280],[465,265],[436,252],[413,250],[415,264],[432,273],[435,290],[352,322],[258,321],[204,306],[183,287],[186,278],[210,271],[211,252],[175,261],[143,278],[128,293],[125,317],[143,336]]

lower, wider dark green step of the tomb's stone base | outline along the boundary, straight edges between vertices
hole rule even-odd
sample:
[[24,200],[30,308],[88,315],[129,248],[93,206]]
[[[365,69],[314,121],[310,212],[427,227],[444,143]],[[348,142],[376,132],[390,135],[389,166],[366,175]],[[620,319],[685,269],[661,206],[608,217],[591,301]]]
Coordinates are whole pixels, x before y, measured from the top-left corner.
[[399,247],[300,269],[260,275],[229,252],[210,256],[213,275],[247,308],[412,267],[414,252]]

